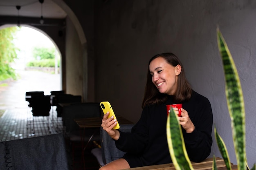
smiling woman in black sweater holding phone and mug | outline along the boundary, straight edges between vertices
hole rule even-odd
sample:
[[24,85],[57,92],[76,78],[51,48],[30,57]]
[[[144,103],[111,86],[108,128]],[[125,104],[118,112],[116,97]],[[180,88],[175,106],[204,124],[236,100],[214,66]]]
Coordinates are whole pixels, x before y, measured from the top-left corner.
[[[211,152],[212,110],[206,97],[193,91],[186,80],[182,63],[173,53],[152,57],[142,102],[141,118],[125,133],[112,129],[116,120],[103,116],[102,124],[117,148],[127,152],[100,170],[121,170],[140,166],[171,163],[166,139],[166,104],[182,103],[182,117],[178,117],[191,161],[206,159]],[[174,108],[178,114],[178,109]]]

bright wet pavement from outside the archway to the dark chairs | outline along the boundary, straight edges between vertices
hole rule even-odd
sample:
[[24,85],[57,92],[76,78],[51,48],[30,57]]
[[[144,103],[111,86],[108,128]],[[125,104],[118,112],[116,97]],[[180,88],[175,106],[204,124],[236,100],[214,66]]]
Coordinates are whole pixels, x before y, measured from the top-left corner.
[[1,82],[8,86],[0,86],[0,110],[4,110],[0,117],[0,141],[61,133],[62,123],[56,117],[55,108],[49,117],[33,117],[25,100],[27,91],[44,91],[45,95],[59,91],[60,75],[40,71],[17,72],[20,75],[18,80]]

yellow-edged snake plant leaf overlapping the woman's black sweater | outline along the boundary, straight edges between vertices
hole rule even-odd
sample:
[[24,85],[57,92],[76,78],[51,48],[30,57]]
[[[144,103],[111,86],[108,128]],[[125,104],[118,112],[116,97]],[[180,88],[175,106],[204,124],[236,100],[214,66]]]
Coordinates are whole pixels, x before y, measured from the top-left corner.
[[169,152],[176,170],[193,170],[193,166],[186,152],[186,147],[182,135],[179,119],[173,111],[170,110],[167,117],[166,135]]

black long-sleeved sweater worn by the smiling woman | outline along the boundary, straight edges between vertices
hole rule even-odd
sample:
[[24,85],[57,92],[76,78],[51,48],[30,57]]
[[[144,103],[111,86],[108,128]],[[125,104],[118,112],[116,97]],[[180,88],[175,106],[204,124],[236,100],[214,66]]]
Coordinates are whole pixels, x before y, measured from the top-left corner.
[[[132,132],[121,132],[116,141],[120,150],[127,152],[124,159],[131,168],[171,163],[166,139],[166,104],[173,104],[172,96],[166,103],[146,106]],[[182,128],[183,137],[191,161],[206,159],[211,152],[213,116],[209,100],[194,92],[182,107],[188,112],[195,130],[188,134]]]

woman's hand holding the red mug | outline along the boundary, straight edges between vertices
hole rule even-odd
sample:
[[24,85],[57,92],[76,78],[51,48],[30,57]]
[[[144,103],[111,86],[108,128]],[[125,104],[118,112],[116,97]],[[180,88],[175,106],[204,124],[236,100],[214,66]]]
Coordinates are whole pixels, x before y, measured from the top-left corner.
[[[180,120],[180,125],[182,126],[182,128],[184,128],[184,130],[186,130],[187,133],[192,133],[195,130],[195,126],[193,124],[193,122],[191,121],[191,119],[189,118],[189,114],[188,112],[183,109],[181,109],[181,117],[178,117],[178,119]],[[174,108],[175,113],[179,113],[178,108]]]

